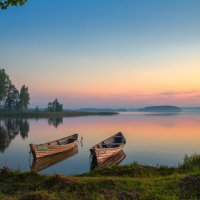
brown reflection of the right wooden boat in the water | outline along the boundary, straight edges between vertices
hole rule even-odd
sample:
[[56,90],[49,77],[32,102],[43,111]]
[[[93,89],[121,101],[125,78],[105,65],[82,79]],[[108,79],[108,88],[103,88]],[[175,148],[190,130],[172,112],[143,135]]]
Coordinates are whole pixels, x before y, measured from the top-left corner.
[[105,166],[111,166],[111,165],[118,165],[121,163],[124,158],[126,158],[126,154],[123,150],[119,151],[118,153],[115,153],[109,157],[106,157],[102,162],[97,162],[96,157],[92,157],[91,162],[91,170],[94,168],[101,168]]

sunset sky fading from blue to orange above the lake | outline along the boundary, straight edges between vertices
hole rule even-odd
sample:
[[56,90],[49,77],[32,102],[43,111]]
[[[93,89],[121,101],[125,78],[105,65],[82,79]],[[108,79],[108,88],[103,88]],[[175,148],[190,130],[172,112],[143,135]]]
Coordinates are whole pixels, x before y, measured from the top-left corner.
[[0,68],[30,106],[200,106],[199,0],[28,0],[0,10]]

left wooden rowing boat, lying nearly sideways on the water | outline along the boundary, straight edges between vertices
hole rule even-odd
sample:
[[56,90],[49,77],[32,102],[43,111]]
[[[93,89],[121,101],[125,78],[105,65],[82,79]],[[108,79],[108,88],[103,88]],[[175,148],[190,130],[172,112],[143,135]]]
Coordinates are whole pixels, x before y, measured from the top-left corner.
[[78,134],[73,134],[44,144],[30,144],[30,149],[34,158],[41,158],[72,149],[77,145],[77,140]]

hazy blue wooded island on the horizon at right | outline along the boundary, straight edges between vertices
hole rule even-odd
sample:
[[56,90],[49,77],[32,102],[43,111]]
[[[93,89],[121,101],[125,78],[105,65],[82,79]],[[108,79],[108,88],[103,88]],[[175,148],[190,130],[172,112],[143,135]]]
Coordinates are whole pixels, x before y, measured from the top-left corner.
[[148,106],[144,108],[139,108],[137,111],[140,112],[181,112],[182,109],[177,106]]

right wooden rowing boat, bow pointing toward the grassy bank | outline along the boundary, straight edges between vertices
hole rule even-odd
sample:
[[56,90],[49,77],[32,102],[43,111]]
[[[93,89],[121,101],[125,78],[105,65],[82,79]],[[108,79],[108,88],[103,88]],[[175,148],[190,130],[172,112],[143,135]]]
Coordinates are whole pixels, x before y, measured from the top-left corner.
[[94,156],[97,162],[100,164],[104,162],[106,158],[120,152],[125,144],[126,144],[126,139],[124,135],[121,132],[119,132],[93,146],[90,149],[90,152],[91,155]]

